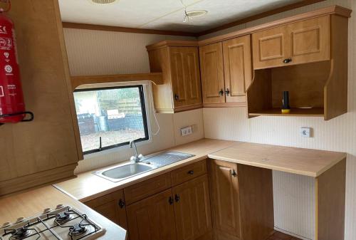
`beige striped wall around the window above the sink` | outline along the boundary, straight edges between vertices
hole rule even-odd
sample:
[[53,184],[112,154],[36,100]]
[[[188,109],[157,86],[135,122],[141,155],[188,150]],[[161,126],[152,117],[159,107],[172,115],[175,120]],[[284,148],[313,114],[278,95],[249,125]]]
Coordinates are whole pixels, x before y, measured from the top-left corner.
[[[149,73],[150,64],[145,46],[164,39],[194,39],[179,36],[163,36],[140,33],[117,33],[64,28],[66,48],[71,75],[100,75],[115,73]],[[151,105],[150,94],[147,104]],[[157,125],[152,107],[147,109],[152,132]],[[199,140],[204,137],[202,110],[191,110],[176,114],[157,114],[159,133],[144,145],[138,144],[142,154],[164,150],[174,145]],[[179,129],[187,125],[197,125],[196,131],[182,137]],[[128,160],[132,150],[122,147],[85,157],[79,162],[75,172],[112,165]]]

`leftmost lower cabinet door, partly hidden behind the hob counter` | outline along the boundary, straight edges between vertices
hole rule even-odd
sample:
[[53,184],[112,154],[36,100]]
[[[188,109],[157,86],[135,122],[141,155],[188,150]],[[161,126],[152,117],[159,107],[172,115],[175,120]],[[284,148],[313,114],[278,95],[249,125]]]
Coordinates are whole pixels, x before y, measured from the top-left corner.
[[123,190],[98,197],[84,203],[91,209],[127,229],[126,208]]

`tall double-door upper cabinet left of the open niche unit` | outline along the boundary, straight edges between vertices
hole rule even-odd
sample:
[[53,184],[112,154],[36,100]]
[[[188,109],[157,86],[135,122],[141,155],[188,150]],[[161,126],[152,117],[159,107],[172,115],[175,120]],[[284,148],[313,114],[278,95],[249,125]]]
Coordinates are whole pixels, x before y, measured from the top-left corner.
[[246,35],[199,48],[204,106],[246,105],[252,80],[250,39]]

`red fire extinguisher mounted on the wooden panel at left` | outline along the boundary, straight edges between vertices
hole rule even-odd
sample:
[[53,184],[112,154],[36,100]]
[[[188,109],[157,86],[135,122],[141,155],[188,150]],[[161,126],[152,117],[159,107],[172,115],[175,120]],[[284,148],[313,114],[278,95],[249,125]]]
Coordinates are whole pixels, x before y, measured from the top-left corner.
[[[21,78],[16,53],[14,24],[4,12],[9,8],[0,9],[0,125],[33,120],[33,113],[26,112],[23,103]],[[30,118],[25,119],[26,114]]]

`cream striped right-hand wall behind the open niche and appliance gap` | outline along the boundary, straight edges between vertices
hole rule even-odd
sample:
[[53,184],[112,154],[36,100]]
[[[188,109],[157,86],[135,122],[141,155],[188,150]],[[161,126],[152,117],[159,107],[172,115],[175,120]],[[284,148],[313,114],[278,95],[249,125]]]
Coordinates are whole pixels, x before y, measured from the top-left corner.
[[[277,14],[242,26],[221,31],[228,33],[286,16],[312,11],[324,6],[345,6],[356,9],[356,1],[323,1],[319,4]],[[355,13],[352,13],[355,15]],[[307,147],[348,152],[345,239],[356,239],[356,18],[349,21],[349,85],[348,113],[333,120],[297,117],[258,117],[248,120],[246,108],[204,108],[205,137],[224,140],[241,140],[275,145]],[[210,34],[214,36],[219,33]],[[202,37],[205,38],[205,37]],[[300,137],[300,127],[313,127],[312,138]],[[314,181],[309,177],[273,172],[275,224],[305,239],[315,234]],[[337,239],[335,239],[337,240]]]

